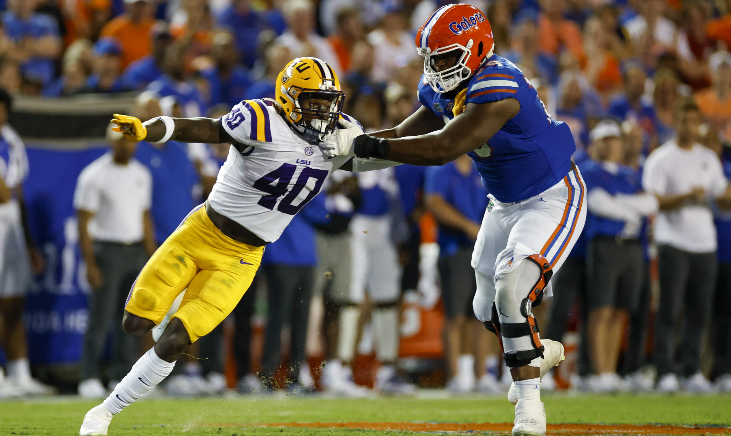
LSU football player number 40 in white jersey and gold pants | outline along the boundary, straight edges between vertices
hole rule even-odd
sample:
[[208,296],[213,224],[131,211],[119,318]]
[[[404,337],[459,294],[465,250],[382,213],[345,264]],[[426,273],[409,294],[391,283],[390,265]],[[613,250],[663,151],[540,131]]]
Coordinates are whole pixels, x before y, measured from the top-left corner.
[[132,286],[123,326],[143,335],[161,323],[175,298],[180,307],[156,345],[101,405],[86,413],[79,434],[107,435],[112,417],[162,382],[175,360],[238,304],[259,268],[264,246],[341,166],[376,170],[398,165],[374,159],[328,159],[318,145],[334,132],[344,93],[324,61],[298,58],[276,80],[276,101],[245,100],[221,119],[158,117],[141,123],[115,115],[132,141],[231,143],[205,204],[194,208],[157,249]]

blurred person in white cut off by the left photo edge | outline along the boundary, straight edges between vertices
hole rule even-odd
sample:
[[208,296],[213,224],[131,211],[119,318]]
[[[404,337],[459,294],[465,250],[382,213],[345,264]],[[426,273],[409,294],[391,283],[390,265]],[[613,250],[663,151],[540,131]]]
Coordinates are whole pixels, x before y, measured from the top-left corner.
[[0,369],[0,398],[53,392],[31,377],[28,361],[23,308],[31,271],[42,272],[44,262],[28,229],[22,192],[28,156],[23,140],[7,122],[11,110],[10,94],[0,89],[0,345],[7,358],[7,378]]

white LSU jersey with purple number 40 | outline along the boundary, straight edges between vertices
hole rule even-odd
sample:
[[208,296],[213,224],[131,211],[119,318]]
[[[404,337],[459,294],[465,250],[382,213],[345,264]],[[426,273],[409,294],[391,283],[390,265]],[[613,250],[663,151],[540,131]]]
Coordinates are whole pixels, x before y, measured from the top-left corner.
[[259,99],[235,105],[221,124],[231,138],[249,147],[238,151],[231,146],[208,201],[267,242],[276,241],[327,176],[350,159],[327,159]]

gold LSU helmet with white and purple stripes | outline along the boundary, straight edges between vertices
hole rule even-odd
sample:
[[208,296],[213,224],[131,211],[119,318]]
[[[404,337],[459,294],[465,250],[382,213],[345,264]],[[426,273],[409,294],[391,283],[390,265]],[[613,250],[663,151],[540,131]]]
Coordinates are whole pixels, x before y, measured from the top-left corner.
[[330,65],[317,58],[289,62],[276,79],[276,103],[300,135],[310,141],[325,139],[335,130],[345,93]]

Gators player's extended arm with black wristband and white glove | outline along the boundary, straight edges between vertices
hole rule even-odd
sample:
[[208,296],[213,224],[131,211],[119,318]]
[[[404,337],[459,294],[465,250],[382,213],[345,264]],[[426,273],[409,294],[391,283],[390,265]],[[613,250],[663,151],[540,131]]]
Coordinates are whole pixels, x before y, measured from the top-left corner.
[[482,147],[518,112],[520,103],[513,98],[482,104],[468,103],[463,113],[438,132],[381,139],[346,129],[338,140],[325,141],[324,148],[329,150],[330,156],[347,154],[411,165],[444,165]]

